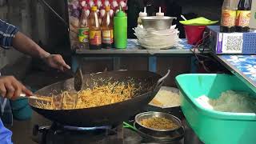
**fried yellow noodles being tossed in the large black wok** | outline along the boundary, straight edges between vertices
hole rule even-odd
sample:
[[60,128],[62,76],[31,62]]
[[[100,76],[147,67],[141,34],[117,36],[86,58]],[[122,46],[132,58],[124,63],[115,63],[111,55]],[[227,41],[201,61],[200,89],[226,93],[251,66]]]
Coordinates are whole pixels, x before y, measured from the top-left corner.
[[59,95],[52,95],[51,102],[37,101],[36,107],[46,110],[73,110],[105,106],[133,98],[138,90],[141,88],[135,87],[133,82],[109,82],[105,86],[78,91],[77,94],[63,91]]

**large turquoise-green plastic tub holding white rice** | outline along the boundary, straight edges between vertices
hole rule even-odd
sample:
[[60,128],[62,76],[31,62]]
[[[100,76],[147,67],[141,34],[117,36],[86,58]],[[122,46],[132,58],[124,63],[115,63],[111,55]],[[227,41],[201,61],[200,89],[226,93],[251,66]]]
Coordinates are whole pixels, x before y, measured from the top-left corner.
[[255,144],[256,114],[227,113],[209,110],[195,98],[206,95],[218,98],[226,90],[247,91],[254,94],[246,84],[227,74],[182,74],[176,77],[181,91],[182,111],[187,122],[206,144]]

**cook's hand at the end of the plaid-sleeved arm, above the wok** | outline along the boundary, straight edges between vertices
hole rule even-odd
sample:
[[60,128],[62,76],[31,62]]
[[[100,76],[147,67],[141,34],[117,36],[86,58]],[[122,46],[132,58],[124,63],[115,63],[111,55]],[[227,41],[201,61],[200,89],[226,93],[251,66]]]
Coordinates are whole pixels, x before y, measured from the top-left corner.
[[55,69],[62,70],[62,71],[66,69],[70,69],[70,66],[66,64],[62,56],[59,54],[50,54],[49,56],[44,58],[44,60],[49,66]]

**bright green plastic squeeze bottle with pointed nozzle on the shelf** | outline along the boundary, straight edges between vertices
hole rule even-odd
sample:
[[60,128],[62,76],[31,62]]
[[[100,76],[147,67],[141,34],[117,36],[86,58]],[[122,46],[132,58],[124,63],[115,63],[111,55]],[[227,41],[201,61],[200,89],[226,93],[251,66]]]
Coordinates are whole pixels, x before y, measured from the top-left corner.
[[114,16],[114,47],[116,49],[127,47],[127,16],[121,7]]

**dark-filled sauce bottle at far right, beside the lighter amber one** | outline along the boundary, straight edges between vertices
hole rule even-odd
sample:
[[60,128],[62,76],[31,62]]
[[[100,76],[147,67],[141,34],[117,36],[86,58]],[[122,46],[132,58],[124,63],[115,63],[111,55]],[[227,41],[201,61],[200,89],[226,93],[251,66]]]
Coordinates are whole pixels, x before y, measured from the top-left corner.
[[238,3],[238,11],[236,18],[236,31],[248,32],[250,30],[250,10],[251,0],[240,0]]

